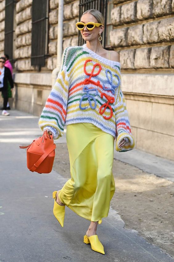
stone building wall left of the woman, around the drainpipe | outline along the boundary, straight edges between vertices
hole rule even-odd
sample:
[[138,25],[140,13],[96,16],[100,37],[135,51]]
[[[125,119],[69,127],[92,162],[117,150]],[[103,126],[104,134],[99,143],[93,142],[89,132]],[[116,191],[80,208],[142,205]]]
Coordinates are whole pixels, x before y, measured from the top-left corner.
[[[51,90],[51,73],[56,68],[58,0],[49,0],[48,58],[38,72],[31,66],[31,6],[32,0],[16,4],[15,86],[13,106],[39,115]],[[79,0],[64,0],[63,49],[78,44],[75,23],[79,15]],[[62,54],[59,54],[60,56]]]

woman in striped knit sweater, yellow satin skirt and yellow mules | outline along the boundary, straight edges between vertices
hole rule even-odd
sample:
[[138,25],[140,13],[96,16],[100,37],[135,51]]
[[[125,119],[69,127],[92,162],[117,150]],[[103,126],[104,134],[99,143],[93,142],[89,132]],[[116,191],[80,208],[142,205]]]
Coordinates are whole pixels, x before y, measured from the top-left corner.
[[71,179],[53,192],[54,215],[63,226],[66,205],[90,220],[84,242],[105,254],[96,230],[108,215],[115,191],[114,138],[119,152],[133,149],[134,140],[120,87],[119,54],[100,44],[103,24],[102,14],[95,9],[85,11],[76,24],[86,45],[64,51],[39,126],[57,139],[67,125]]

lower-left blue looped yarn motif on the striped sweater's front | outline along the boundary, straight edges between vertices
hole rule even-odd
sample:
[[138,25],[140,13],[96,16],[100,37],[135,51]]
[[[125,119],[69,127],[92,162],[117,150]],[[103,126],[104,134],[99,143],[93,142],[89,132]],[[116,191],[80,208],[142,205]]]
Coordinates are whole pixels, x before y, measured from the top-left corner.
[[[81,106],[82,101],[85,100],[86,98],[88,99],[90,108],[96,109],[97,101],[95,99],[95,96],[98,95],[98,90],[96,88],[84,87],[83,91],[85,92],[85,94],[81,97],[80,104],[79,104],[80,109],[85,110],[88,108],[88,106],[85,107]],[[92,92],[94,92],[94,94]]]

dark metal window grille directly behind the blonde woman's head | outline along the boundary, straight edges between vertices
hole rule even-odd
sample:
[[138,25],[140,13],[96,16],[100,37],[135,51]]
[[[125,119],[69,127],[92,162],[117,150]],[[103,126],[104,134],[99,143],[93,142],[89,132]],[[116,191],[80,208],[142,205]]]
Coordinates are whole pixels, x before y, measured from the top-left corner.
[[[100,11],[102,13],[102,15],[104,16],[104,26],[106,28],[106,20],[107,20],[107,0],[80,0],[79,3],[79,7],[80,7],[80,12],[79,12],[79,21],[81,19],[82,14],[89,10],[89,9],[97,9],[98,11]],[[104,30],[104,32],[102,33],[102,37],[103,37],[103,47],[105,48],[106,45],[106,30]],[[78,32],[78,45],[82,46],[85,43],[85,41],[83,40],[81,33]]]

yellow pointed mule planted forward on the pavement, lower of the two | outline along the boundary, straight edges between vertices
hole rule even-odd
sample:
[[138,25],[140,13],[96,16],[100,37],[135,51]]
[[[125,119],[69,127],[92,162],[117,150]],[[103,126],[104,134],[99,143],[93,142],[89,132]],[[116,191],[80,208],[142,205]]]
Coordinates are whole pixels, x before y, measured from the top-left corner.
[[93,251],[96,251],[96,252],[99,252],[105,255],[104,247],[102,243],[100,242],[100,240],[98,239],[97,235],[93,235],[90,237],[87,237],[87,235],[85,235],[83,242],[86,244],[91,244],[91,248]]

